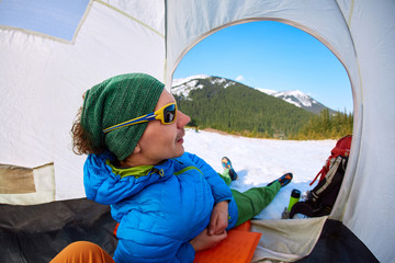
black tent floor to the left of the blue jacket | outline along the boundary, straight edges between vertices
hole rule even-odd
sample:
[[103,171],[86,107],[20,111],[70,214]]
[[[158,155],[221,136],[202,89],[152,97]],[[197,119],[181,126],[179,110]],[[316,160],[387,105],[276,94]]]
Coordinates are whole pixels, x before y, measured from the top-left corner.
[[47,263],[78,240],[97,243],[113,255],[115,225],[109,206],[87,198],[0,205],[0,262]]

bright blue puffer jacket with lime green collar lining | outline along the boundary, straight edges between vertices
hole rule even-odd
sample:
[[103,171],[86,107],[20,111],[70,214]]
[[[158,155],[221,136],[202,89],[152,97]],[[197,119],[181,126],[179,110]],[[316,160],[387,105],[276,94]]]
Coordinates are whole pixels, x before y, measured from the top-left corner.
[[116,262],[193,262],[189,243],[208,226],[213,206],[229,202],[228,229],[236,225],[237,206],[229,187],[199,157],[185,152],[154,167],[142,176],[112,171],[112,153],[90,155],[83,168],[89,199],[111,205],[120,222]]

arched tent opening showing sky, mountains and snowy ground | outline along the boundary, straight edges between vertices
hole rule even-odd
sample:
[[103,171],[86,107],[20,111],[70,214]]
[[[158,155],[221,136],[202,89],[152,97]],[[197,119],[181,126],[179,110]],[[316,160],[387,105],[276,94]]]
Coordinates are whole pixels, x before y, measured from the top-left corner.
[[[352,92],[342,64],[317,38],[280,22],[237,24],[207,35],[178,65],[171,91],[196,130],[270,139],[235,152],[245,185],[263,186],[293,172],[292,186],[259,218],[281,218],[291,191],[312,190],[336,140],[352,134]],[[242,167],[250,159],[261,163],[259,176]],[[210,161],[215,168],[216,160]]]

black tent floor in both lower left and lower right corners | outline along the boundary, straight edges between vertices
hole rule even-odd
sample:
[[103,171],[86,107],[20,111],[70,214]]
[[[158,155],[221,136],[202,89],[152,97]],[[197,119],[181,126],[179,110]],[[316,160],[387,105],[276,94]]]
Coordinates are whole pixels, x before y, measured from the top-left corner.
[[[42,205],[0,205],[0,262],[49,262],[74,241],[87,240],[113,255],[110,207],[87,198]],[[340,221],[327,220],[313,252],[297,262],[379,262]]]

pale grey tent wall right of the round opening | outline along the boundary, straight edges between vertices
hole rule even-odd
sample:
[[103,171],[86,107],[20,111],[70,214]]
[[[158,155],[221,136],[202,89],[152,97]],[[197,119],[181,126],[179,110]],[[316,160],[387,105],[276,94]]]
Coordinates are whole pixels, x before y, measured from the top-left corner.
[[[360,155],[349,185],[343,224],[377,254],[391,262],[395,228],[395,2],[356,1],[350,31],[361,78]],[[374,235],[373,235],[374,233]],[[380,240],[380,241],[379,241]]]

